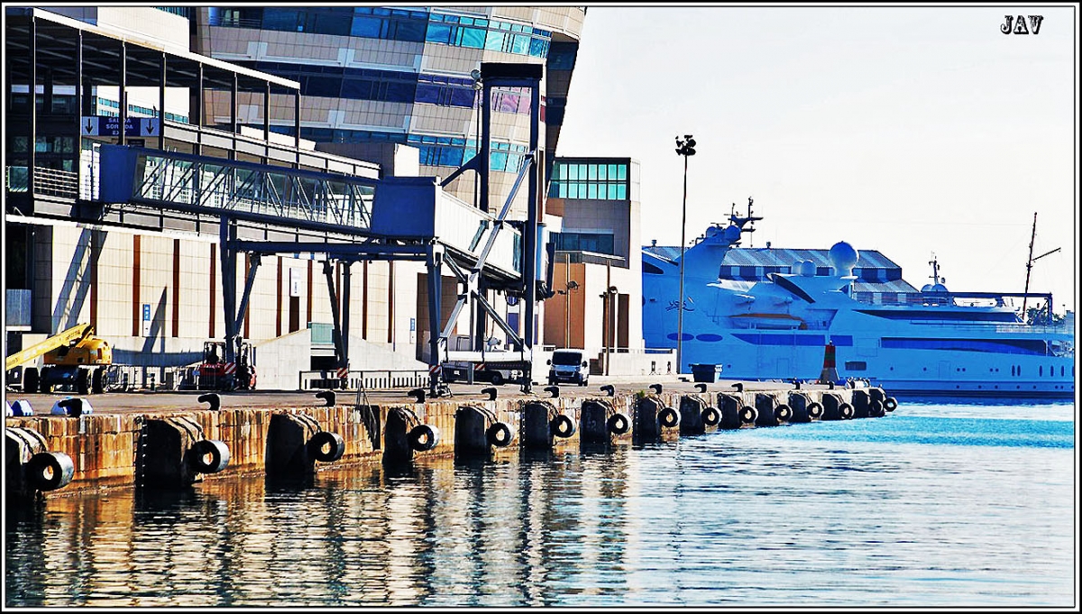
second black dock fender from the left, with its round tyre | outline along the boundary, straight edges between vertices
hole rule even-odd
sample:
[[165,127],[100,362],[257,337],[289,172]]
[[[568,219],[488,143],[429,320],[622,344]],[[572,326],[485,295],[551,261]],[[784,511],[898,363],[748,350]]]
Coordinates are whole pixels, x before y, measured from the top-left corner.
[[229,464],[228,446],[203,437],[202,427],[186,416],[145,419],[135,454],[135,486],[187,488],[204,473]]

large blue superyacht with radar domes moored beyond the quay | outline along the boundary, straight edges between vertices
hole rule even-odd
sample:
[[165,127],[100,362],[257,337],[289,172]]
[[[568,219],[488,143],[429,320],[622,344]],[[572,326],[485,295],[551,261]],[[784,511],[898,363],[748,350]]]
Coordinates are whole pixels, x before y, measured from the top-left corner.
[[[846,242],[741,248],[762,219],[751,203],[684,250],[683,373],[703,364],[726,379],[815,381],[833,344],[841,379],[899,398],[1074,398],[1074,317],[1054,315],[1051,294],[951,292],[935,259],[918,290],[898,265]],[[677,346],[681,257],[678,246],[643,249],[648,348]],[[1014,299],[1042,308],[1024,319]]]

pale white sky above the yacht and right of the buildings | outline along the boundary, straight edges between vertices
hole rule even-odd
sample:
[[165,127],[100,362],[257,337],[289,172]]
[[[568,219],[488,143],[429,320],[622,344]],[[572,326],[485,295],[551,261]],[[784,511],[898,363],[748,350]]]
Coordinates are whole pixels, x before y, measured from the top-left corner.
[[752,197],[743,246],[847,241],[916,288],[935,257],[952,291],[1022,292],[1035,213],[1033,256],[1059,251],[1030,291],[1074,310],[1077,35],[1063,4],[593,5],[557,155],[638,160],[643,243],[678,245],[691,134],[689,242]]

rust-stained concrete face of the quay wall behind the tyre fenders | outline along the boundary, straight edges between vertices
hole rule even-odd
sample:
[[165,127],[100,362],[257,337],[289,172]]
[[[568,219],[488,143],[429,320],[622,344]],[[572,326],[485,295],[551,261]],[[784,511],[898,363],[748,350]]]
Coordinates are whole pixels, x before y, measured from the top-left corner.
[[[870,389],[878,390],[878,389]],[[837,408],[842,404],[861,405],[855,402],[855,392],[859,398],[868,398],[868,392],[852,389],[835,390],[748,390],[725,392],[674,392],[660,393],[555,397],[536,399],[496,399],[496,400],[428,400],[421,403],[391,403],[387,405],[354,405],[353,403],[337,403],[331,406],[291,406],[291,408],[222,408],[222,409],[170,409],[147,410],[131,413],[91,413],[79,416],[34,415],[6,418],[5,452],[8,455],[6,470],[9,493],[17,484],[24,484],[24,490],[37,490],[32,484],[26,486],[31,458],[38,453],[63,453],[70,458],[70,481],[63,488],[49,490],[48,496],[62,496],[80,490],[123,486],[161,486],[156,483],[161,480],[148,473],[148,465],[153,463],[169,464],[172,459],[179,465],[189,463],[186,456],[189,448],[195,448],[200,440],[221,442],[225,446],[226,460],[217,470],[206,467],[193,470],[181,469],[186,476],[186,483],[201,480],[217,480],[229,476],[246,473],[262,473],[273,477],[292,464],[301,467],[304,472],[318,471],[330,463],[408,463],[413,458],[425,456],[449,456],[462,453],[466,445],[472,445],[480,454],[486,452],[517,450],[524,442],[531,448],[578,448],[584,443],[602,441],[604,444],[616,442],[632,443],[647,440],[675,440],[682,435],[697,435],[720,428],[750,428],[755,426],[776,426],[787,422],[808,422],[809,419],[832,419],[829,415],[809,416],[804,404],[818,403],[828,408],[834,406],[833,419],[847,417],[869,417],[876,415],[868,412],[862,415],[839,415]],[[794,395],[795,393],[795,395]],[[835,398],[830,402],[827,397]],[[886,399],[882,391],[872,392],[871,397]],[[801,397],[803,399],[794,399]],[[795,403],[793,401],[796,401]],[[790,414],[783,415],[782,408]],[[863,403],[868,405],[866,400]],[[539,409],[539,405],[542,408]],[[597,435],[596,418],[593,410],[604,405],[605,414],[602,423],[613,414],[622,414],[626,418],[626,430],[604,431]],[[797,408],[797,405],[800,405]],[[583,412],[583,408],[588,411]],[[591,409],[592,408],[592,409]],[[742,410],[743,419],[726,422],[726,408]],[[754,409],[751,412],[749,408]],[[370,411],[369,411],[370,409]],[[893,408],[892,408],[893,409]],[[545,412],[539,417],[537,412]],[[717,413],[716,422],[709,413]],[[805,419],[793,419],[793,412],[802,411]],[[531,414],[531,412],[535,412]],[[673,418],[676,413],[679,417]],[[748,415],[754,413],[752,419]],[[828,412],[829,413],[829,412]],[[860,414],[860,412],[856,412]],[[764,416],[767,417],[764,417]],[[882,403],[878,415],[883,415]],[[573,433],[553,432],[554,421],[567,416],[567,423],[573,425]],[[473,422],[471,422],[471,419]],[[672,424],[676,419],[677,424]],[[736,419],[736,418],[734,418]],[[277,423],[276,423],[277,421]],[[485,441],[486,429],[491,430],[496,423],[506,425],[504,429],[510,435],[510,441]],[[619,421],[617,421],[619,423]],[[713,422],[713,424],[711,424]],[[278,425],[277,433],[273,424]],[[294,427],[293,435],[281,435],[282,425]],[[160,431],[148,427],[161,427],[177,431],[169,443],[166,439],[150,437],[148,433]],[[401,440],[413,427],[426,425],[434,427],[439,433],[438,443],[430,449],[403,449]],[[540,425],[540,426],[539,426]],[[611,426],[611,425],[609,425]],[[613,427],[615,428],[615,427]],[[539,430],[540,429],[540,430]],[[591,432],[593,429],[593,432]],[[461,432],[458,432],[461,430]],[[585,433],[584,433],[585,430]],[[28,431],[28,432],[27,432]],[[330,459],[316,462],[318,455],[305,442],[320,431],[335,433],[340,438],[339,454],[334,454],[333,436],[328,436]],[[477,432],[475,432],[477,431]],[[37,433],[37,438],[35,438]],[[479,433],[479,435],[478,435]],[[18,437],[22,437],[19,439]],[[471,440],[470,438],[473,438]],[[598,439],[598,437],[601,439]],[[478,438],[479,441],[478,441]],[[167,438],[168,439],[168,438]],[[175,441],[174,441],[175,440]],[[181,441],[183,440],[183,442]],[[27,443],[28,442],[28,443]],[[148,443],[149,442],[149,443]],[[290,443],[292,442],[292,443]],[[540,442],[540,443],[539,443]],[[172,445],[176,450],[166,453],[166,460],[154,459],[154,454],[147,451],[151,445]],[[142,448],[141,448],[142,446]],[[180,446],[180,448],[177,448]],[[221,446],[219,446],[221,449]],[[141,451],[142,450],[142,451]],[[203,450],[202,452],[207,452]],[[213,451],[211,451],[213,452]],[[170,455],[172,454],[172,455]],[[337,457],[335,457],[337,456]],[[208,456],[211,465],[215,462]],[[148,460],[151,459],[151,460]],[[186,459],[186,460],[185,460]],[[197,463],[197,467],[201,466]],[[167,477],[172,479],[173,469],[167,470]],[[14,472],[14,473],[13,473]],[[174,471],[175,472],[175,471]],[[49,471],[45,471],[49,477]],[[185,482],[181,476],[181,483]],[[168,481],[168,480],[166,480]],[[31,480],[32,482],[32,480]],[[18,493],[13,493],[16,496]]]

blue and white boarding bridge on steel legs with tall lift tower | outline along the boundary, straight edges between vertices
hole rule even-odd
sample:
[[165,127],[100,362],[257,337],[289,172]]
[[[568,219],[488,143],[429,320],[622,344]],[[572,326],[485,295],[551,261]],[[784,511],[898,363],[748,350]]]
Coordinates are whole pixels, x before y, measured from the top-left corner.
[[[104,203],[149,205],[181,213],[216,216],[220,224],[222,290],[225,310],[226,361],[234,362],[240,347],[238,331],[251,296],[263,254],[326,254],[324,272],[330,290],[334,320],[334,346],[340,368],[348,368],[348,310],[339,313],[338,290],[330,259],[423,261],[427,266],[430,322],[430,392],[438,395],[440,365],[447,360],[484,360],[485,318],[492,318],[512,339],[518,360],[532,359],[536,302],[547,297],[547,285],[539,286],[544,244],[539,232],[541,164],[539,148],[540,80],[542,67],[524,64],[481,63],[483,138],[480,151],[447,179],[437,177],[385,177],[372,179],[256,164],[221,158],[103,145],[100,200]],[[490,91],[494,86],[527,88],[531,92],[529,154],[514,186],[497,215],[489,213],[488,164],[490,150]],[[484,161],[484,162],[483,162]],[[465,171],[479,175],[480,202],[473,206],[441,189]],[[527,219],[507,219],[507,213],[524,179]],[[303,230],[304,239],[256,240],[238,236],[238,223]],[[543,227],[542,227],[543,228]],[[302,233],[298,232],[298,237]],[[246,252],[251,267],[237,304],[237,254]],[[461,284],[449,318],[443,321],[441,272],[446,266]],[[551,266],[551,258],[550,258]],[[342,292],[348,305],[349,268],[345,268]],[[512,328],[489,303],[488,291],[522,298],[524,334]],[[474,316],[471,351],[451,351],[448,338],[461,310]],[[526,368],[524,389],[530,389]]]

